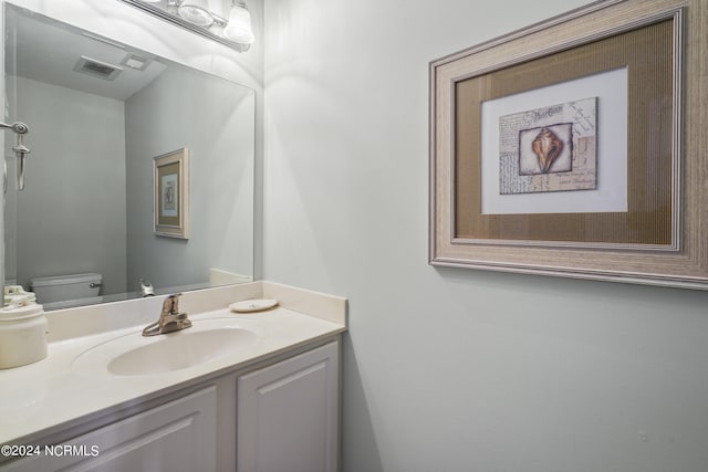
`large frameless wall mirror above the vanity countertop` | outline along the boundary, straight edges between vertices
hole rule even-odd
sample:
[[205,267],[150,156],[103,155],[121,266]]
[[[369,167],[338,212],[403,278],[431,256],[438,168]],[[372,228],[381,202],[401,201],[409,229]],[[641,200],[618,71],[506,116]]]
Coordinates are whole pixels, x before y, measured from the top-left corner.
[[[31,149],[18,191],[6,132],[6,285],[101,274],[98,297],[59,308],[139,296],[139,279],[158,294],[251,281],[254,91],[10,3],[4,17],[3,120],[29,126]],[[155,232],[155,158],[175,151],[188,238]]]

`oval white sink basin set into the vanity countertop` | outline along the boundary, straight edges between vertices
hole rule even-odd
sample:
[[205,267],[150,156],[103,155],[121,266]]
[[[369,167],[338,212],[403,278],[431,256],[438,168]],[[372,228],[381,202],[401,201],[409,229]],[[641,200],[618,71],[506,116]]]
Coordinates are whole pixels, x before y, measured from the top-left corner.
[[118,376],[143,376],[187,369],[253,346],[259,328],[230,318],[194,321],[175,333],[144,337],[132,333],[80,354],[73,361],[79,371],[107,370]]

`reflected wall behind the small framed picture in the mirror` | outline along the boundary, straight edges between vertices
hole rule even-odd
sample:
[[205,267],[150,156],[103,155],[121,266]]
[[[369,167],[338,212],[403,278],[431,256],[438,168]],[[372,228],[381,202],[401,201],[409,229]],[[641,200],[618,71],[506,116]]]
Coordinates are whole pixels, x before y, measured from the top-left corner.
[[[176,66],[126,102],[128,283],[253,274],[254,113],[251,90]],[[184,147],[188,241],[153,234],[153,157]]]

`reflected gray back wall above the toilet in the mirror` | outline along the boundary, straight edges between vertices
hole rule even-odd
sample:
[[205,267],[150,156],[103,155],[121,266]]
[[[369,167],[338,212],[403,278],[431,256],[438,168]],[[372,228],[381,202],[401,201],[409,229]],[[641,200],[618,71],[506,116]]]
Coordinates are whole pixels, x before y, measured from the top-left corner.
[[123,102],[18,77],[17,107],[13,119],[29,124],[31,149],[14,245],[10,230],[6,248],[17,259],[17,281],[28,287],[34,276],[97,272],[104,291],[124,292]]

